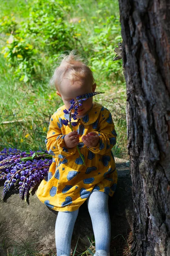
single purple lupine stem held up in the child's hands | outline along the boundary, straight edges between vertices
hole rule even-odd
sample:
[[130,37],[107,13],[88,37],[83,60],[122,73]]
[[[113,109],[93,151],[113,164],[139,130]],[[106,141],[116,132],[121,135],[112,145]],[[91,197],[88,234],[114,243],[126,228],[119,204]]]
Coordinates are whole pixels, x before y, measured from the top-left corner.
[[[87,100],[88,98],[90,98],[90,97],[93,97],[93,96],[95,96],[96,94],[100,94],[100,93],[104,93],[104,92],[94,92],[94,93],[86,93],[86,94],[83,94],[82,96],[78,96],[76,99],[77,99],[77,101],[75,102],[74,101],[74,99],[72,99],[71,101],[70,101],[70,104],[71,104],[71,107],[67,110],[67,109],[65,109],[65,110],[63,110],[63,112],[65,113],[65,114],[68,114],[69,115],[69,117],[68,117],[68,119],[62,119],[62,123],[64,124],[64,125],[68,125],[68,123],[69,123],[69,125],[70,125],[70,128],[71,128],[71,131],[73,131],[73,126],[76,126],[77,125],[77,122],[71,122],[71,118],[73,118],[74,120],[76,120],[77,119],[77,114],[78,114],[78,108],[79,108],[79,106],[82,106],[82,103],[83,103],[83,101],[85,101],[85,100]],[[71,113],[71,111],[73,111],[74,110],[74,113]],[[83,161],[83,164],[84,164],[84,166],[85,166],[85,160],[84,160],[84,157],[82,156],[82,154],[81,154],[81,152],[80,152],[80,150],[79,150],[79,147],[78,147],[78,145],[77,145],[77,150],[78,150],[78,152],[79,152],[79,155],[80,155],[80,157],[82,158],[82,161]]]

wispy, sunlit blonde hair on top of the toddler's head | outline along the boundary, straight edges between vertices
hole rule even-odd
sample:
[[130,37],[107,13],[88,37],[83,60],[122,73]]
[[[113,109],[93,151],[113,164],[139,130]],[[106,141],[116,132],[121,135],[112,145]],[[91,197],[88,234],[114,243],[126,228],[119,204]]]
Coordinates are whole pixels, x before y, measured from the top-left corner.
[[56,89],[63,78],[71,81],[83,80],[85,83],[90,83],[91,86],[95,83],[93,72],[87,66],[87,61],[77,54],[76,50],[67,51],[68,54],[61,54],[58,58],[58,66],[55,68],[53,76],[50,80],[50,85],[55,85]]

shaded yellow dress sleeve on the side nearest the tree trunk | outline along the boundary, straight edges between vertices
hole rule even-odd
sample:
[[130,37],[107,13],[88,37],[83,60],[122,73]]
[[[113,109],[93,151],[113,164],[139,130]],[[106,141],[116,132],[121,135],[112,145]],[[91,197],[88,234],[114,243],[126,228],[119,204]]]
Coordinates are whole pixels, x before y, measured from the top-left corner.
[[105,109],[105,111],[101,116],[102,120],[99,120],[99,128],[98,131],[95,131],[99,135],[99,143],[96,147],[89,147],[89,150],[94,154],[106,154],[113,146],[116,144],[116,131],[113,123],[113,119],[110,111]]

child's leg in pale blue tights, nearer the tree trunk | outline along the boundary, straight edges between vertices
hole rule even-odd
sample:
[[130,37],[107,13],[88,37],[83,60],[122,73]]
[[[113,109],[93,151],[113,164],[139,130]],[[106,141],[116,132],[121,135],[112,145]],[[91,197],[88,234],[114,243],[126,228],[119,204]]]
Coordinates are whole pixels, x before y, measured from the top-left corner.
[[108,195],[104,192],[94,191],[89,196],[87,203],[96,244],[94,256],[109,256],[111,221],[108,211]]

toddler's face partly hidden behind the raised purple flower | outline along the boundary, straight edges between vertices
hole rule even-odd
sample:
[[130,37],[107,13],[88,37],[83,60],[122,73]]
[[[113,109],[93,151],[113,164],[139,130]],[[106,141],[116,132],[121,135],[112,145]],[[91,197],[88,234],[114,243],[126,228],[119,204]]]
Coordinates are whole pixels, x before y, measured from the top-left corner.
[[[74,99],[76,101],[77,96],[81,96],[86,93],[92,93],[96,89],[96,84],[90,85],[85,84],[84,81],[71,81],[69,79],[63,79],[60,86],[59,91],[57,91],[57,94],[62,98],[62,101],[64,102],[65,108],[70,108],[70,101],[71,99]],[[78,115],[84,116],[85,113],[89,111],[93,103],[93,97],[85,100],[78,108]]]

